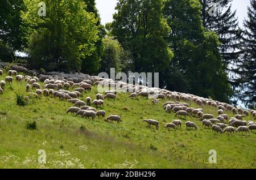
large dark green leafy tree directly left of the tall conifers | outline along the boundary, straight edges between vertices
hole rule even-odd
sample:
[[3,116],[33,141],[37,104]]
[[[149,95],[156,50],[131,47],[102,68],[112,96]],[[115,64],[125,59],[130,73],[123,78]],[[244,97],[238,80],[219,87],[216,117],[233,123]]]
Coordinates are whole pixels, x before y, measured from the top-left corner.
[[167,0],[164,17],[172,28],[166,40],[174,50],[164,73],[167,89],[228,102],[232,91],[218,50],[220,42],[216,33],[205,31],[200,2]]

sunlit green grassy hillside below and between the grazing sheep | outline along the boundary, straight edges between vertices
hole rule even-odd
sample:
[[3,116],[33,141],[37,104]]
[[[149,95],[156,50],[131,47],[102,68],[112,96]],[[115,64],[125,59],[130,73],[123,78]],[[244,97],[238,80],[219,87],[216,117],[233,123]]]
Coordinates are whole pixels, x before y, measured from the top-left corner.
[[[0,95],[0,168],[256,168],[254,132],[215,134],[192,117],[187,121],[195,122],[197,131],[186,130],[185,119],[181,130],[168,130],[164,125],[179,118],[164,112],[163,100],[152,105],[143,98],[131,100],[126,93],[119,93],[115,101],[105,100],[107,115],[121,115],[119,125],[67,115],[65,110],[72,104],[58,98],[41,97],[34,104],[18,106],[16,93],[26,95],[25,85],[14,80]],[[96,93],[93,88],[82,100],[94,99]],[[216,108],[200,107],[217,116]],[[149,128],[143,118],[158,120],[159,130]],[[26,128],[32,121],[36,130]],[[46,164],[37,161],[39,149],[46,151]],[[217,164],[208,162],[210,149],[217,151]]]

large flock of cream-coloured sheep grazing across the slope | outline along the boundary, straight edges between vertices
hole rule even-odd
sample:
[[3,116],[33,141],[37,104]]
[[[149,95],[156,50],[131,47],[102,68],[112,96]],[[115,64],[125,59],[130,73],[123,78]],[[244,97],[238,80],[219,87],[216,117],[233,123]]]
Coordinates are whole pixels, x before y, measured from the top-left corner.
[[[1,68],[1,67],[0,67]],[[171,92],[166,89],[160,88],[148,88],[143,85],[132,85],[123,83],[121,81],[114,81],[112,79],[104,79],[98,76],[89,76],[81,73],[65,74],[64,72],[39,72],[36,70],[27,70],[27,68],[21,66],[13,66],[12,70],[8,71],[9,76],[6,76],[5,81],[0,82],[0,93],[5,90],[6,83],[13,83],[13,79],[21,82],[24,80],[26,84],[26,91],[31,96],[49,96],[57,97],[60,100],[67,100],[73,104],[65,113],[71,113],[81,118],[96,118],[104,117],[106,112],[104,110],[97,110],[98,107],[104,108],[104,100],[111,98],[115,100],[119,92],[130,92],[130,98],[137,98],[138,96],[144,98],[152,98],[152,104],[159,104],[160,99],[169,101],[163,104],[163,109],[166,113],[175,113],[175,117],[188,116],[198,117],[204,128],[211,128],[214,132],[246,132],[249,130],[256,130],[256,122],[243,121],[243,117],[251,116],[256,119],[256,111],[250,112],[236,106],[232,106],[226,103],[214,101],[208,98],[198,97],[191,94]],[[19,75],[18,72],[24,74],[31,74],[31,76]],[[3,75],[3,71],[0,70],[0,75]],[[43,82],[43,87],[38,82]],[[84,92],[90,91],[95,85],[104,85],[104,94],[97,93],[94,99],[92,97],[86,97],[85,101],[80,100],[80,97],[84,95]],[[111,87],[111,88],[110,88]],[[110,88],[110,89],[109,89]],[[114,89],[112,89],[114,88]],[[31,89],[35,89],[35,92],[30,92]],[[72,91],[69,91],[72,89]],[[172,101],[170,101],[172,100]],[[186,103],[181,102],[185,101]],[[218,117],[214,118],[212,114],[205,114],[202,108],[192,108],[189,106],[189,102],[195,102],[198,105],[208,105],[218,108]],[[234,117],[229,118],[225,112],[230,111],[234,114]],[[110,115],[105,118],[105,121],[117,123],[121,122],[119,115]],[[159,122],[154,119],[143,119],[143,122],[148,123],[149,126],[153,125],[159,128]],[[176,131],[182,126],[182,121],[174,120],[171,123],[167,123],[165,128],[174,128]],[[195,122],[185,122],[187,128],[194,128],[197,130]],[[236,128],[236,129],[235,129]]]

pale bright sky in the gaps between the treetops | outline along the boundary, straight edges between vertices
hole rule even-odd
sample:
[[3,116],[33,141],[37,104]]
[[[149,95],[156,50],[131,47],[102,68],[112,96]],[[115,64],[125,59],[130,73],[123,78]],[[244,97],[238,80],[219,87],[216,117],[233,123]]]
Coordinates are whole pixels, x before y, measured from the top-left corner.
[[[102,24],[112,22],[116,4],[117,0],[96,0],[96,6],[100,12]],[[249,5],[250,0],[233,0],[232,2],[232,8],[233,10],[237,10],[237,17],[241,26],[243,19],[247,16],[247,6]]]

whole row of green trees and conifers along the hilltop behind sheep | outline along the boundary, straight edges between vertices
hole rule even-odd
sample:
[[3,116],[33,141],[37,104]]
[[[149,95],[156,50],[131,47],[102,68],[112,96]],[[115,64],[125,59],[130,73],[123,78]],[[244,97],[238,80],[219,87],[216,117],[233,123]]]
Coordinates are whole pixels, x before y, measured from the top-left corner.
[[38,70],[159,72],[161,88],[255,106],[256,0],[243,27],[232,0],[119,0],[105,27],[95,0],[45,0],[45,16],[40,2],[0,2],[1,61],[19,50]]

